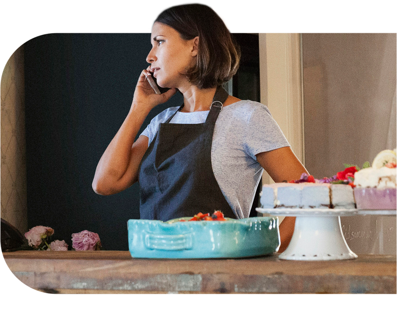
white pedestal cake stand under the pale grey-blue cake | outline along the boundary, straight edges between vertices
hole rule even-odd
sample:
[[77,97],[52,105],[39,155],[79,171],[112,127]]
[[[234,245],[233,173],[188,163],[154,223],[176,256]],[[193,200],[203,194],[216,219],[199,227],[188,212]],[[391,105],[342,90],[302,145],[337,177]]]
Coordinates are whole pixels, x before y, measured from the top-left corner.
[[348,247],[340,216],[396,215],[396,210],[256,208],[273,216],[294,216],[295,229],[288,247],[280,254],[286,260],[342,260],[357,255]]

